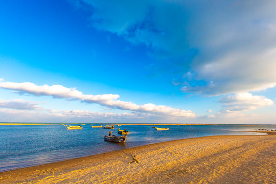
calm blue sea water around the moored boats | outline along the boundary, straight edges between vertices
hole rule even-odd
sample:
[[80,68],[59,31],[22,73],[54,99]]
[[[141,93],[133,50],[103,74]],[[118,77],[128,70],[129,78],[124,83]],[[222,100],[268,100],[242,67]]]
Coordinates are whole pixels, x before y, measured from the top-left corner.
[[112,130],[114,135],[119,135],[118,128],[130,131],[126,143],[120,144],[104,141],[110,129],[82,127],[67,130],[63,125],[0,125],[0,172],[158,142],[209,135],[252,135],[240,131],[275,129],[275,125],[158,125],[170,130],[157,131],[153,125],[122,125]]

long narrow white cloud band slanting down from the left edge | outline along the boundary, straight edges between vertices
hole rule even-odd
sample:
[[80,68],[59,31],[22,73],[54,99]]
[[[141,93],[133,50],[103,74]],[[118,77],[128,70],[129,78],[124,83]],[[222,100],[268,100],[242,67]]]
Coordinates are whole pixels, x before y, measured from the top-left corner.
[[0,82],[0,87],[5,89],[13,89],[19,93],[27,93],[36,96],[52,96],[54,98],[64,98],[67,100],[80,100],[86,103],[97,103],[102,106],[118,108],[123,110],[132,110],[136,112],[146,112],[159,114],[164,116],[175,117],[195,117],[191,110],[181,110],[177,108],[167,107],[164,105],[144,104],[137,105],[131,102],[117,100],[119,95],[83,95],[81,91],[75,88],[66,88],[61,85],[42,85],[38,86],[34,83],[14,83],[14,82]]

